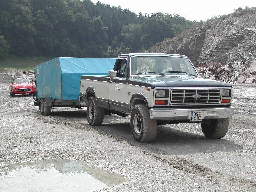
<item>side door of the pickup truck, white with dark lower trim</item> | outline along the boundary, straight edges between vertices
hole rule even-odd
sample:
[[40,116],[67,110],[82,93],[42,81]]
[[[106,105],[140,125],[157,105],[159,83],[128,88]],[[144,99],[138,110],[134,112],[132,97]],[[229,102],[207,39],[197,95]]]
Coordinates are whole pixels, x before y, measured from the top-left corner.
[[126,103],[128,62],[127,58],[120,58],[115,65],[116,77],[108,83],[108,102],[110,108],[123,111],[129,104]]

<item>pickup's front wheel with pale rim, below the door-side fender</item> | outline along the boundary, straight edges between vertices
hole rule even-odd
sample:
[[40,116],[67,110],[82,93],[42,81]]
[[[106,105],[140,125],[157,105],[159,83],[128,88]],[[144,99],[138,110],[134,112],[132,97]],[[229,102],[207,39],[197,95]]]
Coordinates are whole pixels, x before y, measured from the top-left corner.
[[133,138],[140,142],[152,142],[156,138],[157,123],[150,119],[146,104],[138,104],[132,108],[131,132]]

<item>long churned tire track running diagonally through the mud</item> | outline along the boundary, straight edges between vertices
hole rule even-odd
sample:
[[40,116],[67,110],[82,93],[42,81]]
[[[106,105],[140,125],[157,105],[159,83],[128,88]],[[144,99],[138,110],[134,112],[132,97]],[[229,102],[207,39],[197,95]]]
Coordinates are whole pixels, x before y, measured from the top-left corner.
[[[228,174],[222,174],[219,171],[214,171],[212,169],[209,169],[206,166],[195,164],[193,161],[186,159],[186,158],[182,158],[180,156],[164,155],[164,151],[162,149],[156,148],[156,147],[151,147],[149,144],[146,144],[147,147],[149,147],[151,149],[151,151],[156,151],[156,153],[146,150],[145,148],[143,148],[143,146],[139,145],[140,143],[138,143],[132,139],[126,138],[124,136],[116,137],[116,136],[101,132],[100,130],[94,129],[93,127],[81,126],[81,124],[79,124],[79,122],[72,122],[72,121],[69,121],[62,117],[43,116],[39,112],[36,112],[33,110],[28,110],[28,109],[24,109],[24,110],[32,112],[32,113],[36,113],[35,117],[40,119],[44,123],[63,124],[63,125],[68,125],[68,126],[74,126],[74,128],[76,128],[76,129],[97,132],[98,134],[114,138],[117,141],[125,142],[126,144],[129,144],[133,147],[138,147],[144,154],[154,157],[161,162],[169,164],[173,168],[176,168],[180,171],[184,171],[184,172],[187,172],[190,174],[201,175],[202,177],[211,178],[214,180],[214,183],[216,185],[218,185],[218,184],[234,185],[235,184],[235,185],[239,185],[240,187],[245,188],[246,191],[256,191],[256,183],[253,181],[250,181],[248,179],[241,178],[241,177],[231,176]],[[102,126],[104,126],[104,124]],[[162,152],[162,155],[157,154],[157,152],[159,152],[159,151]]]

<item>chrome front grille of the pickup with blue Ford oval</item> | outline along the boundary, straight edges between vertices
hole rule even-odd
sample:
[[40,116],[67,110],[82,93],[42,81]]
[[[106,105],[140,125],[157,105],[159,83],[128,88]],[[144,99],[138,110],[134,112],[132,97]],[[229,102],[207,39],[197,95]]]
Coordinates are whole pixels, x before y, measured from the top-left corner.
[[[172,89],[171,105],[220,103],[220,89]],[[194,98],[200,95],[200,98]]]

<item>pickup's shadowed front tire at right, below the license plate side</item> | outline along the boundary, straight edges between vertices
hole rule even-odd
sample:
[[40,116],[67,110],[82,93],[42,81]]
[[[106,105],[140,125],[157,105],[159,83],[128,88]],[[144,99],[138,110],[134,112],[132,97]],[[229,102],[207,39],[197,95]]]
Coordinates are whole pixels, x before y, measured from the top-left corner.
[[208,122],[202,122],[201,128],[204,136],[212,139],[220,139],[228,132],[229,118],[211,119]]

